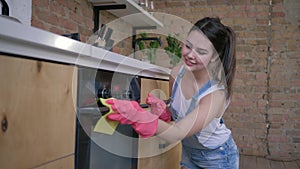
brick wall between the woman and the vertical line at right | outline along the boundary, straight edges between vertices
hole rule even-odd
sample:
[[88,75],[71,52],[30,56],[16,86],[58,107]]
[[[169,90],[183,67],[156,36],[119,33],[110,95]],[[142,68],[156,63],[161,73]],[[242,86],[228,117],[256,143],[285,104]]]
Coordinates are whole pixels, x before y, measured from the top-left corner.
[[266,155],[268,1],[157,1],[161,12],[196,22],[219,16],[237,34],[237,73],[225,121],[241,154]]

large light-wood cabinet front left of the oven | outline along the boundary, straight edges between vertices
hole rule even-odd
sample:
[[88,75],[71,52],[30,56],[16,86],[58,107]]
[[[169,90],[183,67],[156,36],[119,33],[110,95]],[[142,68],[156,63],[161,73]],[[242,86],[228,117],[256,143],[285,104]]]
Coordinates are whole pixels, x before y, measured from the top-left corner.
[[76,78],[73,66],[0,55],[0,168],[74,159]]

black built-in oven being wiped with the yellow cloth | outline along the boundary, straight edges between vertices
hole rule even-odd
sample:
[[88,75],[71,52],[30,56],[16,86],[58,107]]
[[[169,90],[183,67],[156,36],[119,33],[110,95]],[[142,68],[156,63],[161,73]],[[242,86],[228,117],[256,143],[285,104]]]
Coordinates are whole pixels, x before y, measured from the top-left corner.
[[76,169],[136,169],[138,134],[119,124],[113,135],[95,132],[97,121],[107,113],[98,98],[140,100],[140,77],[78,68]]

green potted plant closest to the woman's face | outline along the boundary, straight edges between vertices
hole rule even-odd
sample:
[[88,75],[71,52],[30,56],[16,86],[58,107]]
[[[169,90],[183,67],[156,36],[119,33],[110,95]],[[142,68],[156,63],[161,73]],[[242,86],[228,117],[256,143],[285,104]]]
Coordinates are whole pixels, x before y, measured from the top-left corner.
[[166,53],[170,57],[170,64],[175,66],[181,59],[181,42],[178,40],[179,34],[172,36],[171,34],[167,37],[168,46],[165,47]]

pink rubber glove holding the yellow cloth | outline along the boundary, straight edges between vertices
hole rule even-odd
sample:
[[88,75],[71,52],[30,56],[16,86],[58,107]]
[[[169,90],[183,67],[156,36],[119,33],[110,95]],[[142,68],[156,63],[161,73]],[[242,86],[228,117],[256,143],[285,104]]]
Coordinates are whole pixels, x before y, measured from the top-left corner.
[[131,124],[132,128],[143,138],[155,134],[158,125],[158,116],[142,109],[135,101],[110,99],[106,101],[115,113],[107,116],[109,120],[119,121],[122,124]]

